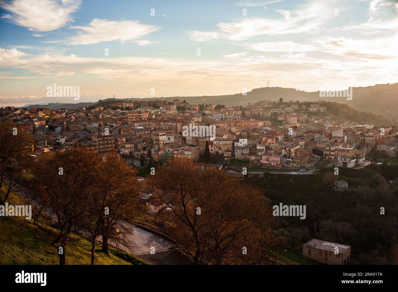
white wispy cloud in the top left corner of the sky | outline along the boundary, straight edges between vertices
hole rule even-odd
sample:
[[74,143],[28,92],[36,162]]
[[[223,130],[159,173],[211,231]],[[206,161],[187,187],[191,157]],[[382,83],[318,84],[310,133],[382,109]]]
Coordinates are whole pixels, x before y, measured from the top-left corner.
[[[31,31],[52,31],[64,27],[80,3],[80,0],[14,0],[1,1],[0,7],[10,12],[3,17],[16,25]],[[59,15],[60,9],[62,15]]]

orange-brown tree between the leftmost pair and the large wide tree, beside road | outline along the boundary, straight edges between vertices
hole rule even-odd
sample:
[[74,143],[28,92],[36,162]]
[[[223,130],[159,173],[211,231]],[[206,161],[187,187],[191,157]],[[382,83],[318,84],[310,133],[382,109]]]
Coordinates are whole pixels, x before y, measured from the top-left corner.
[[131,248],[132,223],[142,213],[138,204],[137,172],[114,151],[96,165],[96,179],[90,195],[92,211],[85,217],[85,227],[92,234],[91,264],[94,265],[98,236],[102,237],[102,251],[109,255],[109,241],[113,245]]

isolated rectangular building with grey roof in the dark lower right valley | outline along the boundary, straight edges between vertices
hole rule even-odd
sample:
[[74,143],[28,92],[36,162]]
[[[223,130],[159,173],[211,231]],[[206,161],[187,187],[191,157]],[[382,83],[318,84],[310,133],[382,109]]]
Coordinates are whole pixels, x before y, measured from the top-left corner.
[[350,261],[351,246],[312,239],[302,245],[302,256],[319,263],[345,265]]

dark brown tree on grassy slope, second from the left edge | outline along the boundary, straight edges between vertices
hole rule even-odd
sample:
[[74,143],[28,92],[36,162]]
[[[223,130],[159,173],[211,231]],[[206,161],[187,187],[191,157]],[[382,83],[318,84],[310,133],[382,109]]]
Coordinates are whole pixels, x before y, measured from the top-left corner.
[[[45,231],[51,245],[57,250],[59,264],[66,263],[66,247],[77,239],[74,231],[92,211],[94,170],[98,169],[101,156],[93,151],[74,147],[62,153],[41,155],[33,167],[35,198],[41,207],[33,224]],[[56,219],[57,228],[49,228],[39,222],[40,213]]]

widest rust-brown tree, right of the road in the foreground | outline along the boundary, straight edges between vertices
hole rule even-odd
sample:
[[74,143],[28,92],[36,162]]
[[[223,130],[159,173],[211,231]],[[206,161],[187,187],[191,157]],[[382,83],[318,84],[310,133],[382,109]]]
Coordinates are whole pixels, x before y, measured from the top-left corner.
[[284,243],[269,227],[265,197],[222,170],[174,159],[147,182],[163,203],[162,228],[194,264],[272,263],[270,251]]

